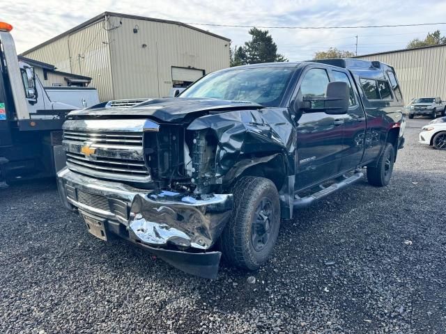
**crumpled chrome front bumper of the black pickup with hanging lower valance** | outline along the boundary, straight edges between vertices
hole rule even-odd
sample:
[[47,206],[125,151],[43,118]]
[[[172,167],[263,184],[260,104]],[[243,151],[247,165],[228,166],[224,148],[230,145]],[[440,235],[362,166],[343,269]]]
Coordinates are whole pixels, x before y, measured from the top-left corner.
[[180,270],[215,278],[220,252],[208,251],[233,208],[232,194],[137,189],[68,168],[58,173],[63,204],[104,221],[107,232],[144,246]]

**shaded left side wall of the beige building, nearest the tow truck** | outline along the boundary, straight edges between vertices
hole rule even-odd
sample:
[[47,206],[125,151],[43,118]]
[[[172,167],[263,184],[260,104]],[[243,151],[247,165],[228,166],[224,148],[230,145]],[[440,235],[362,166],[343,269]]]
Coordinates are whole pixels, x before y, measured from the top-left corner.
[[101,101],[114,98],[108,35],[104,21],[64,36],[24,56],[52,64],[57,70],[91,77]]

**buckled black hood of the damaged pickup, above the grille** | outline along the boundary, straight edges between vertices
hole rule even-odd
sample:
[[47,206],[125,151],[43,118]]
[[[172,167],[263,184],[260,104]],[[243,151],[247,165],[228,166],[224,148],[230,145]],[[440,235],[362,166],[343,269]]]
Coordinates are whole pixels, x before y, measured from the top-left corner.
[[[102,104],[103,105],[103,104]],[[203,98],[169,97],[148,100],[130,108],[87,108],[72,111],[68,117],[89,116],[152,116],[165,122],[181,122],[190,113],[202,111],[233,111],[243,109],[260,109],[260,104],[243,101],[226,101]]]

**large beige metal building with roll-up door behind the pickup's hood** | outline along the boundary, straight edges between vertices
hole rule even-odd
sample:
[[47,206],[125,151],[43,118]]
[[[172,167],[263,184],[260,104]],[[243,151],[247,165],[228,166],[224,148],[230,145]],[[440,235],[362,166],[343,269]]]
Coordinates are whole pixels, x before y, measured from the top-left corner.
[[229,42],[181,22],[105,12],[21,56],[91,77],[101,101],[165,97],[229,67]]

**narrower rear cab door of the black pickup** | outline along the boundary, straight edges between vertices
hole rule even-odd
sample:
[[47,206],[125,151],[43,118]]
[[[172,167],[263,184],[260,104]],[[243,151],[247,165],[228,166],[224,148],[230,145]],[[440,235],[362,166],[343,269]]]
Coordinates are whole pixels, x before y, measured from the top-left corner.
[[346,70],[332,70],[332,81],[346,82],[350,92],[348,113],[344,115],[344,138],[342,141],[341,171],[356,168],[364,154],[366,118],[359,100],[353,78]]

